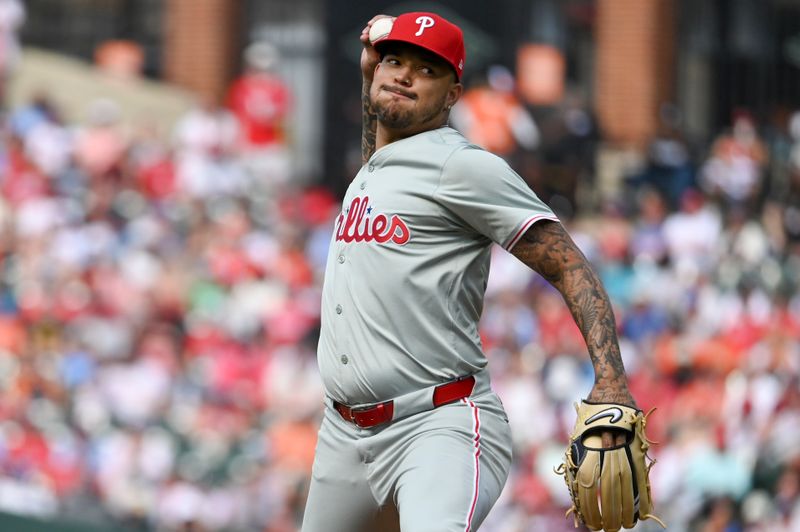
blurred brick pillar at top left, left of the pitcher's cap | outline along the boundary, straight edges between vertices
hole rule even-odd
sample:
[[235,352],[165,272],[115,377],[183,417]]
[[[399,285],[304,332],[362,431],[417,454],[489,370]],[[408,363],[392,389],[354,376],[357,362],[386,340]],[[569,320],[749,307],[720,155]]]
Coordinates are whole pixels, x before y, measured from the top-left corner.
[[166,79],[203,97],[221,98],[238,71],[241,0],[167,0]]

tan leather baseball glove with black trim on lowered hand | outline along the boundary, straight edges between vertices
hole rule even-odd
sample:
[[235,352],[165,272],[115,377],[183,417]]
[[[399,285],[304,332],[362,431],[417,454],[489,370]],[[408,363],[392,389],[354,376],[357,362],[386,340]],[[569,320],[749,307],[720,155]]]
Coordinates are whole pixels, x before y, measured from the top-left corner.
[[[569,446],[556,472],[564,481],[572,498],[567,510],[578,526],[578,519],[590,530],[616,532],[620,527],[632,528],[639,519],[654,519],[650,512],[650,468],[655,460],[647,456],[650,441],[644,433],[647,417],[628,406],[614,403],[575,405],[578,419],[570,436]],[[624,445],[603,449],[603,430],[623,430]]]

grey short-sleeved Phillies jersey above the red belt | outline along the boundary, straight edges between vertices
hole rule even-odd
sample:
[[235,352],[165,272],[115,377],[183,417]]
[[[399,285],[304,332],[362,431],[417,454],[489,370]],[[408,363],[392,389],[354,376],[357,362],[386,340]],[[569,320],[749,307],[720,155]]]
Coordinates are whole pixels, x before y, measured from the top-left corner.
[[326,393],[373,403],[473,374],[490,248],[556,220],[505,161],[449,127],[376,151],[336,221],[318,362]]

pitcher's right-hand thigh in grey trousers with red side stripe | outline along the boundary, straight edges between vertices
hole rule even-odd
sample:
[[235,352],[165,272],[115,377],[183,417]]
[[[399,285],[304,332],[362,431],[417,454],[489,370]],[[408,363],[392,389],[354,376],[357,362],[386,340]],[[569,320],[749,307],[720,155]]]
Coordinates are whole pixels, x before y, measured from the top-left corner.
[[397,468],[403,532],[474,531],[497,501],[511,465],[511,435],[499,401],[488,395],[418,421]]

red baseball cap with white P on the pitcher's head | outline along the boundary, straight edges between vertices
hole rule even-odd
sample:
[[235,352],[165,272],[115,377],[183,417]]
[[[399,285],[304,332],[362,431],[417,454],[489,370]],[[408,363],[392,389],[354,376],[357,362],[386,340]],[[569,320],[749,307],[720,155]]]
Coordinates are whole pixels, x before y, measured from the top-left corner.
[[435,13],[403,13],[394,20],[392,30],[375,42],[376,49],[389,42],[406,42],[429,50],[448,63],[461,79],[464,73],[464,34],[461,28]]

